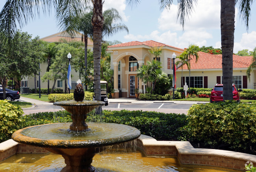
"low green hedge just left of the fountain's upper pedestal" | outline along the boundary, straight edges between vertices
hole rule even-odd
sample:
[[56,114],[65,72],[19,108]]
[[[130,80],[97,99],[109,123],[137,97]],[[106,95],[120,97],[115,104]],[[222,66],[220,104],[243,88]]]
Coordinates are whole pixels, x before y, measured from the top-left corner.
[[22,117],[24,119],[23,126],[28,127],[41,124],[68,123],[72,122],[70,115],[71,114],[65,110],[57,112],[31,113]]

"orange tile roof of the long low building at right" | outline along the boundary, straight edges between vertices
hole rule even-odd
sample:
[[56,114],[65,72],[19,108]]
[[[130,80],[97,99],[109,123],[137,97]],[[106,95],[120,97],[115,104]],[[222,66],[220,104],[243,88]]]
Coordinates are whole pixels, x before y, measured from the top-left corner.
[[[198,69],[222,69],[222,55],[213,55],[209,53],[198,52],[199,58],[197,63],[195,58],[190,60],[191,70]],[[233,55],[233,68],[248,68],[251,64],[252,56]],[[181,70],[179,66],[177,70]],[[183,66],[183,70],[187,70],[187,66]]]

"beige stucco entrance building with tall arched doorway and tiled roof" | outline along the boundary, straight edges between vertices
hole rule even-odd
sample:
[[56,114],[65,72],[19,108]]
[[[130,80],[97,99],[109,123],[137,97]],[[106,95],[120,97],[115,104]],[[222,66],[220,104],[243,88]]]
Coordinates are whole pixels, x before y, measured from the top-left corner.
[[148,50],[151,47],[162,49],[160,62],[163,65],[163,71],[167,74],[173,74],[172,55],[180,55],[184,49],[162,44],[153,40],[145,42],[132,41],[122,44],[116,44],[108,47],[108,53],[111,54],[111,69],[114,70],[114,89],[115,97],[135,97],[135,88],[140,92],[145,90],[145,84],[137,78],[137,68],[147,61],[154,59],[154,55]]

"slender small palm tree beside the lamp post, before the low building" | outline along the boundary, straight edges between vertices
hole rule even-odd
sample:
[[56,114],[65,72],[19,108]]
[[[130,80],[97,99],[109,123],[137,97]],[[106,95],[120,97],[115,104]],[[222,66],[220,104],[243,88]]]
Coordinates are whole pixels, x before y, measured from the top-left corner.
[[186,53],[185,53],[185,57],[186,59],[189,61],[189,93],[190,93],[190,59],[194,59],[194,57],[196,58],[196,61],[198,60],[199,56],[198,56],[198,49],[199,47],[196,45],[196,44],[190,44],[188,46],[188,48],[185,50]]

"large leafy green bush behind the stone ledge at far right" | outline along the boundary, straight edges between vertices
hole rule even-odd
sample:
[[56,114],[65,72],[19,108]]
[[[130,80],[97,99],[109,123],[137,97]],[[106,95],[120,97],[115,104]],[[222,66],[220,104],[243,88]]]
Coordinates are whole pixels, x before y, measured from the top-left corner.
[[255,103],[226,101],[193,105],[188,121],[189,135],[205,146],[255,154]]

